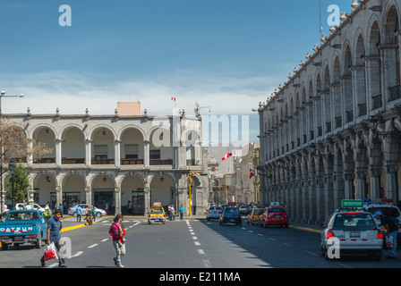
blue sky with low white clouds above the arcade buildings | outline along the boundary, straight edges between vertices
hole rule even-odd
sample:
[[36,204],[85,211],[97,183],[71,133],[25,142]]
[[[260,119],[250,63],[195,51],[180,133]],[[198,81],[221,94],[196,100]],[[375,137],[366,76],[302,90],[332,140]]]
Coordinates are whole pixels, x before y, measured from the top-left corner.
[[[352,0],[321,2],[328,35],[328,7],[350,13]],[[149,115],[192,115],[198,103],[202,116],[246,119],[255,140],[252,108],[320,46],[319,1],[2,0],[0,35],[0,89],[24,94],[3,97],[4,114],[114,114],[141,101]]]

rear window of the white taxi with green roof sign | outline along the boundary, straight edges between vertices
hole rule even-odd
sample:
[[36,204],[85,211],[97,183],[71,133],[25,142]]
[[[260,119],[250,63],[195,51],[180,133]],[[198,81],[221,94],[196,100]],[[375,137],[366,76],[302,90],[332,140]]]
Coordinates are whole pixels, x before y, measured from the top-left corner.
[[368,231],[376,230],[377,225],[371,214],[337,214],[333,230]]

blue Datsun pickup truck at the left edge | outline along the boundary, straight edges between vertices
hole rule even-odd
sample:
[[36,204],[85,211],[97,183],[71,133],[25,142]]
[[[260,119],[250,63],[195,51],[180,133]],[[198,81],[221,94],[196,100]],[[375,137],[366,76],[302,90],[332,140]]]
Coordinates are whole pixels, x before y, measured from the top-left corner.
[[47,218],[38,210],[12,210],[0,223],[0,242],[2,249],[7,250],[13,244],[30,243],[36,248],[42,247],[42,241],[47,240]]

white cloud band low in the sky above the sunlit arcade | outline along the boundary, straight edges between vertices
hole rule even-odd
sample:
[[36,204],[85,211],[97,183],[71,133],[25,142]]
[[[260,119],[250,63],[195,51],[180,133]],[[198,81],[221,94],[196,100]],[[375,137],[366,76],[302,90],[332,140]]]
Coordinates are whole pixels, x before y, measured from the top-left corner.
[[[266,100],[279,77],[237,79],[198,71],[176,71],[153,79],[110,81],[107,75],[81,75],[64,71],[35,74],[1,74],[1,87],[7,95],[25,94],[23,98],[3,98],[4,114],[114,114],[117,101],[141,101],[148,114],[172,114],[176,97],[178,108],[193,114],[195,102],[210,106],[211,114],[252,114],[252,108]],[[209,109],[201,110],[209,114]]]

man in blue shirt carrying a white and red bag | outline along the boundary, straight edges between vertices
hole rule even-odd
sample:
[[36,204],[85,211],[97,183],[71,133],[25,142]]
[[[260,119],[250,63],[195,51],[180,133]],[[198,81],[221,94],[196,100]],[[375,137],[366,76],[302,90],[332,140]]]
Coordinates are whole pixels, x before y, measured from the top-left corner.
[[[59,209],[55,210],[55,214],[53,217],[49,218],[47,221],[47,245],[50,245],[52,242],[55,243],[55,248],[57,249],[57,257],[58,257],[58,267],[66,267],[64,264],[64,258],[60,256],[60,244],[59,240],[61,239],[60,231],[63,228],[63,217],[62,212]],[[45,267],[45,255],[40,259],[40,265]]]

